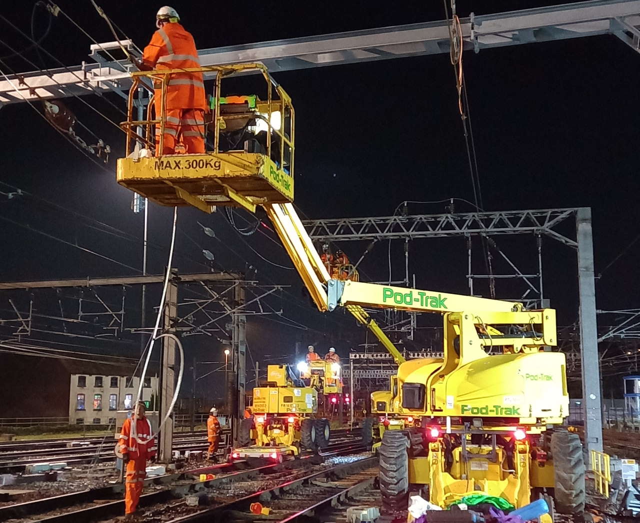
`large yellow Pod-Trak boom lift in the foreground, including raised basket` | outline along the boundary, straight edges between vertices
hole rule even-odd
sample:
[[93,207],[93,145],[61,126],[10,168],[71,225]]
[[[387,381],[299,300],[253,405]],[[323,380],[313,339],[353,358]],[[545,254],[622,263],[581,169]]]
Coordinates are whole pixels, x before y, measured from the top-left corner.
[[[378,448],[385,508],[406,508],[410,492],[422,489],[440,506],[467,492],[484,492],[520,507],[546,493],[554,495],[559,510],[582,510],[582,447],[577,435],[561,428],[568,394],[564,354],[552,351],[555,311],[332,279],[292,206],[294,110],[289,96],[260,64],[193,71],[215,78],[207,153],[154,155],[154,131],[163,131],[166,122],[162,113],[152,115],[151,106],[147,119],[134,119],[134,94],[141,81],[152,79],[164,98],[168,79],[184,71],[135,72],[129,119],[122,124],[127,157],[118,160],[118,183],[159,204],[192,205],[205,212],[214,206],[252,211],[262,206],[317,308],[346,308],[401,363],[385,410],[394,411],[403,424],[383,431]],[[227,78],[233,78],[229,89],[235,92],[243,82],[255,88],[257,77],[248,72],[261,75],[266,94],[225,97]],[[441,313],[444,358],[404,361],[364,307]],[[254,416],[259,414],[254,409]]]

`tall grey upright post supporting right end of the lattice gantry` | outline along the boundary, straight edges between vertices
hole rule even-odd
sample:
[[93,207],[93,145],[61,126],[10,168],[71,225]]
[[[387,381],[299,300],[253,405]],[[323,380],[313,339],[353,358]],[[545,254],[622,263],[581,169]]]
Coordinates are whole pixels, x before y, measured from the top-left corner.
[[[576,214],[578,241],[578,289],[580,295],[580,358],[584,398],[584,442],[587,451],[602,451],[602,401],[600,398],[600,358],[596,323],[596,294],[593,275],[591,208],[580,207]],[[588,455],[590,452],[588,452]]]

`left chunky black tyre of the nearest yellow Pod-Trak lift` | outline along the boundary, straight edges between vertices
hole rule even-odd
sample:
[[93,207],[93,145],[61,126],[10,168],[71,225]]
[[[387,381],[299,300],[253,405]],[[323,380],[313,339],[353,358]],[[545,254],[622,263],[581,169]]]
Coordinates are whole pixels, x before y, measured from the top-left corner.
[[405,431],[385,431],[380,452],[380,492],[382,513],[393,515],[406,511],[409,504],[409,449]]

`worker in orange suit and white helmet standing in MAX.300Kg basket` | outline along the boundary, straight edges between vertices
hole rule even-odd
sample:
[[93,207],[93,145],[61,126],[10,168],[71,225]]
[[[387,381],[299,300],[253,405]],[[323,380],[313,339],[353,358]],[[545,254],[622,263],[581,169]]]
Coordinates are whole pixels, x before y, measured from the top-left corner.
[[[164,6],[156,15],[158,30],[145,47],[143,70],[189,69],[200,67],[198,51],[191,33],[178,22],[175,9]],[[156,84],[154,103],[156,119],[161,117],[161,89]],[[175,154],[175,146],[182,141],[188,154],[204,154],[204,112],[207,108],[204,79],[201,72],[177,72],[168,78],[164,101],[163,150],[159,149],[161,126],[156,126],[156,156]]]

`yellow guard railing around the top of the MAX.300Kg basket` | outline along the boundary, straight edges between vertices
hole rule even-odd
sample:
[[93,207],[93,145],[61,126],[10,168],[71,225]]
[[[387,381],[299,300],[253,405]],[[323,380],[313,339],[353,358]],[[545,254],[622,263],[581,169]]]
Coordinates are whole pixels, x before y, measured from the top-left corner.
[[[214,144],[212,154],[220,153],[220,129],[224,128],[224,120],[234,120],[234,119],[246,119],[250,118],[253,120],[262,120],[266,123],[269,132],[266,133],[266,156],[272,158],[271,156],[271,146],[272,146],[272,138],[276,136],[280,140],[280,147],[278,151],[278,158],[280,162],[280,167],[284,167],[285,160],[288,164],[288,168],[290,174],[293,174],[294,168],[294,109],[291,103],[291,97],[285,92],[284,88],[282,88],[276,81],[269,75],[266,67],[261,63],[241,63],[235,65],[209,65],[207,67],[192,67],[187,69],[171,69],[171,70],[154,70],[154,71],[136,71],[132,72],[132,87],[129,90],[129,103],[128,103],[128,111],[127,111],[127,121],[122,122],[120,126],[124,129],[127,135],[127,147],[126,154],[129,156],[131,154],[134,144],[136,142],[141,142],[146,145],[148,149],[154,150],[156,149],[156,156],[159,156],[160,152],[163,150],[164,145],[164,129],[166,126],[166,95],[167,95],[167,87],[169,80],[173,74],[184,74],[186,72],[200,72],[202,74],[214,73],[215,74],[215,87],[213,94],[213,106],[212,106],[212,122],[214,123]],[[267,86],[267,100],[266,102],[260,101],[260,106],[266,108],[266,112],[260,111],[250,111],[244,113],[232,113],[221,115],[220,110],[220,101],[222,96],[221,91],[221,83],[223,78],[228,78],[232,75],[237,74],[246,74],[246,73],[260,73],[262,77],[266,81]],[[135,94],[138,92],[138,87],[147,88],[146,83],[143,83],[143,79],[148,78],[153,82],[155,88],[154,98],[157,99],[157,96],[160,96],[159,107],[158,104],[152,104],[153,99],[149,102],[149,107],[147,110],[147,119],[140,120],[134,118],[134,110],[135,108]],[[138,103],[140,103],[138,101]],[[152,119],[152,105],[155,105],[159,109],[156,110],[155,118]],[[280,118],[277,119],[279,122],[278,126],[275,126],[274,123],[276,119],[273,118],[275,113],[280,113]],[[221,125],[222,124],[222,125]],[[159,126],[160,132],[154,133],[154,127]],[[141,131],[143,129],[143,131]],[[154,142],[154,135],[159,135],[158,143]],[[157,147],[156,147],[157,145]],[[288,154],[285,154],[285,150],[288,151]]]

